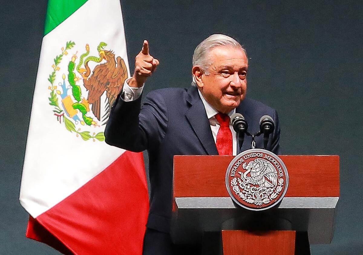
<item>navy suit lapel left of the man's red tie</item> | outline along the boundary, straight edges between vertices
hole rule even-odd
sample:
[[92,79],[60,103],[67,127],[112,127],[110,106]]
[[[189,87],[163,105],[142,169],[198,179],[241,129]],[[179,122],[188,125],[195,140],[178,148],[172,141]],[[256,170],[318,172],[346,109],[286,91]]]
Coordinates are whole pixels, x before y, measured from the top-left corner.
[[199,97],[196,87],[191,87],[188,90],[189,98],[187,101],[190,108],[186,113],[189,124],[192,126],[198,139],[203,145],[208,155],[218,155],[217,147],[213,139],[211,126],[205,113],[205,108],[202,100]]

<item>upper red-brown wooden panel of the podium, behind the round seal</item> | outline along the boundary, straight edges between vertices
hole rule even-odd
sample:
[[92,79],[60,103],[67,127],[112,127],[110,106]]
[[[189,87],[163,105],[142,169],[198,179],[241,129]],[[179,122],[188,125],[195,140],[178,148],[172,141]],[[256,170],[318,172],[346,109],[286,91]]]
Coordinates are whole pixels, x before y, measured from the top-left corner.
[[[339,156],[279,156],[289,172],[285,197],[339,197]],[[174,197],[229,197],[233,156],[174,156]]]

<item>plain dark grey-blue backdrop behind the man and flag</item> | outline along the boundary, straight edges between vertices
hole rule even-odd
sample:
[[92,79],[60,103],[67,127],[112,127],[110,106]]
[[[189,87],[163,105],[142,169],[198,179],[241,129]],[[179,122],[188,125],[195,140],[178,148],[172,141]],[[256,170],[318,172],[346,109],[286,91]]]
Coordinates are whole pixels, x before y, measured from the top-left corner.
[[[58,254],[25,238],[18,201],[46,0],[0,6],[0,254]],[[311,254],[363,254],[360,1],[123,0],[122,8],[130,69],[143,39],[160,60],[146,92],[189,86],[193,50],[212,33],[245,46],[247,95],[278,111],[283,153],[340,156],[334,238]]]

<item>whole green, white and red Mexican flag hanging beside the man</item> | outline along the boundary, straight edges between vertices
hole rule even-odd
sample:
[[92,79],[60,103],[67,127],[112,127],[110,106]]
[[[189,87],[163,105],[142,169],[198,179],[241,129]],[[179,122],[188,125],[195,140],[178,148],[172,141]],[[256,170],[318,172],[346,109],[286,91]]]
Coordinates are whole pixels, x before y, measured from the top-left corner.
[[119,0],[49,0],[20,188],[26,237],[65,254],[142,253],[143,157],[103,134],[128,77]]

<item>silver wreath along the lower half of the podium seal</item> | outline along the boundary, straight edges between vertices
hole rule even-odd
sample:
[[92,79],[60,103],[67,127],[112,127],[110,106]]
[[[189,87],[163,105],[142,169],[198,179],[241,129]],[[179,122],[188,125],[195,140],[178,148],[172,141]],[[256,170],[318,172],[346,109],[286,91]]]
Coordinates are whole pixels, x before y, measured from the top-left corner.
[[[234,177],[231,180],[232,190],[246,203],[261,206],[262,204],[268,204],[281,192],[284,186],[284,179],[278,178],[278,184],[275,189],[251,186],[245,184],[240,178]],[[241,189],[240,189],[241,188]]]

